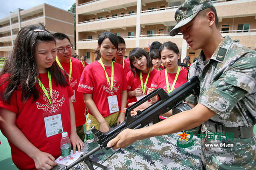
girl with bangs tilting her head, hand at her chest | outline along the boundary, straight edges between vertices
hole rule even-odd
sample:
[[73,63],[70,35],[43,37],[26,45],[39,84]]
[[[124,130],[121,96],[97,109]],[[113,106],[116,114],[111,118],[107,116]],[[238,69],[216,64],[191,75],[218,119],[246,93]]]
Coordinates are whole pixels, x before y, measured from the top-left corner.
[[142,48],[134,48],[129,54],[131,71],[126,79],[128,83],[128,102],[139,101],[147,95],[148,88],[157,69],[154,69],[151,58]]

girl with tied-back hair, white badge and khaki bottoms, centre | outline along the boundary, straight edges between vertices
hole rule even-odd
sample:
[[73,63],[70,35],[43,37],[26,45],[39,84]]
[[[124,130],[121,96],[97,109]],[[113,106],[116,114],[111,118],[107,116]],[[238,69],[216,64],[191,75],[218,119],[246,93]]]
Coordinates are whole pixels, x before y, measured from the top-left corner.
[[103,32],[98,39],[98,59],[84,67],[77,91],[84,93],[87,119],[102,132],[125,120],[127,82],[119,63],[112,61],[118,49],[116,35]]

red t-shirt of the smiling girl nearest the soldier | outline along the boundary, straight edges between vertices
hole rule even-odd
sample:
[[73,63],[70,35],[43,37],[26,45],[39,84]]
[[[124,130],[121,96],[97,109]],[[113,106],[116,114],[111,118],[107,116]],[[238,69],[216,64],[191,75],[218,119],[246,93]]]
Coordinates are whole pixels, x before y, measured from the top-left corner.
[[[165,70],[166,69],[161,70],[154,76],[150,88],[154,87],[155,89],[157,89],[158,87],[160,87],[160,88],[163,88],[166,93],[168,93],[167,87],[166,87]],[[172,83],[175,80],[176,73],[167,72],[167,75],[168,75],[168,81],[169,81],[169,88],[171,89]],[[187,82],[186,76],[187,76],[186,70],[180,68],[180,73],[178,75],[178,78],[173,90],[177,89],[179,86]]]

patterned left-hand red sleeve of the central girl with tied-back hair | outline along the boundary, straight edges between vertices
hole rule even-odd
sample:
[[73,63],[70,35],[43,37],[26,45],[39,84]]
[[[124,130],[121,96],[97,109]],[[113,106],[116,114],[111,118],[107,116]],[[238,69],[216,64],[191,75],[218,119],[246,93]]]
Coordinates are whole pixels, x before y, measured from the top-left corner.
[[78,92],[83,92],[87,94],[93,93],[93,64],[84,67],[84,71],[81,75],[79,85],[77,88]]

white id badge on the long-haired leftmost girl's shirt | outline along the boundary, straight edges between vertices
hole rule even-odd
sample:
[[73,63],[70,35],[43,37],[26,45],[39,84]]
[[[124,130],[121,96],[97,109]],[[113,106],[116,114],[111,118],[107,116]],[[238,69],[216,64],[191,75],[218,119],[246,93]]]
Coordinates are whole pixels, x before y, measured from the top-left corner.
[[63,132],[61,111],[43,113],[46,137],[57,135]]

